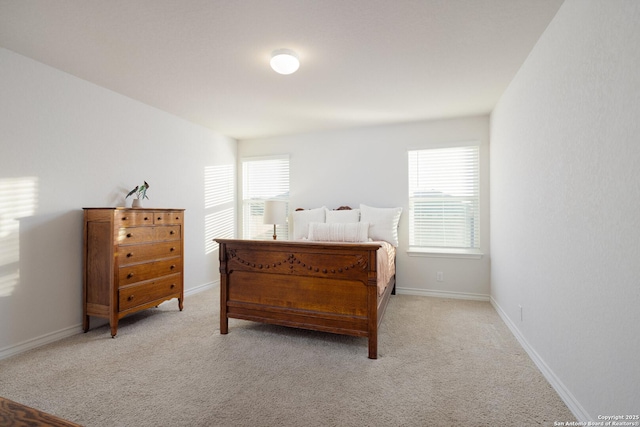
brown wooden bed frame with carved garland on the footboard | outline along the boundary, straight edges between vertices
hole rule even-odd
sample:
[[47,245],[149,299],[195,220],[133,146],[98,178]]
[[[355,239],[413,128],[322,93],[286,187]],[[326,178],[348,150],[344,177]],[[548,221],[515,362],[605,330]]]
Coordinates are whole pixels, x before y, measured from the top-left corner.
[[376,243],[215,239],[220,244],[220,333],[229,318],[367,337],[378,326],[395,276],[378,296]]

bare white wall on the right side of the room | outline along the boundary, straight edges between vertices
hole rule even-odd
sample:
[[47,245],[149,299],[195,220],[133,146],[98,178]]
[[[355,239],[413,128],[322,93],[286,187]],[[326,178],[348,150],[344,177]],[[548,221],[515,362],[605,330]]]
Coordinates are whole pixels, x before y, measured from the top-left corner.
[[491,115],[492,298],[585,421],[640,409],[639,23],[567,0]]

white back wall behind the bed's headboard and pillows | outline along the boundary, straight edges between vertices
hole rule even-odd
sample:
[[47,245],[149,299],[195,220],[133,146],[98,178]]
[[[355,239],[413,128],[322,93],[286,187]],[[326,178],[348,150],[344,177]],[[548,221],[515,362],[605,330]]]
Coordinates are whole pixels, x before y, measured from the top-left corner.
[[[461,141],[481,143],[482,259],[409,257],[407,150]],[[399,292],[453,297],[489,295],[489,118],[468,117],[243,140],[238,158],[289,154],[295,208],[325,205],[403,207],[397,253]],[[444,281],[436,281],[436,272]]]

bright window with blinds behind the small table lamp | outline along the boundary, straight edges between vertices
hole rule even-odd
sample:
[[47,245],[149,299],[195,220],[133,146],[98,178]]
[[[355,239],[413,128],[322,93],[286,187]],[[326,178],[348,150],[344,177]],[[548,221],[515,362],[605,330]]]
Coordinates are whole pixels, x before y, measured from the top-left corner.
[[[262,222],[265,200],[289,201],[289,156],[242,160],[242,238],[273,238],[273,224]],[[277,234],[288,239],[289,227],[278,225]]]

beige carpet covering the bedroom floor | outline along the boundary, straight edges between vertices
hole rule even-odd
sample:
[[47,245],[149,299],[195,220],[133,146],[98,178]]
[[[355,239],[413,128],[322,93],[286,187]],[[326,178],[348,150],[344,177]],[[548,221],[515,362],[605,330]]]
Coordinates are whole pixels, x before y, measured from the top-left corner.
[[219,289],[0,361],[0,395],[85,426],[529,426],[575,420],[486,302],[396,295],[364,338],[231,320]]

